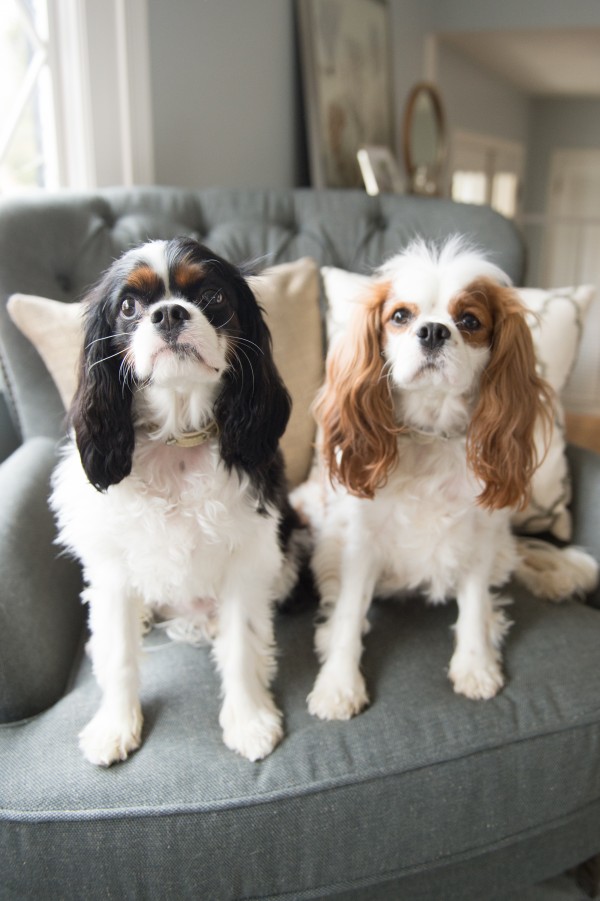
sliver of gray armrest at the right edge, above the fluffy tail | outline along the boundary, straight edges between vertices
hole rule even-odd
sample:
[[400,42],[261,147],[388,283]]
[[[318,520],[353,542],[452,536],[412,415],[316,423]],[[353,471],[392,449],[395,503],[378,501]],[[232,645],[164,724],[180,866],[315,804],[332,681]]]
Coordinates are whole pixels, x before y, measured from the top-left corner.
[[[600,454],[567,445],[573,498],[573,544],[589,551],[600,562]],[[600,586],[588,598],[600,607]]]

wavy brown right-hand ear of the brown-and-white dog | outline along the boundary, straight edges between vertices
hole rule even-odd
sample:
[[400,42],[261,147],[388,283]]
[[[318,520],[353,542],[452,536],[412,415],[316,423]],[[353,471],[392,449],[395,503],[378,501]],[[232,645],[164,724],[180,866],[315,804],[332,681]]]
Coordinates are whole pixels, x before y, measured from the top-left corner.
[[531,478],[543,459],[534,442],[541,423],[548,443],[554,395],[537,374],[531,331],[516,293],[481,280],[469,290],[483,292],[493,313],[491,357],[467,434],[467,460],[484,489],[478,502],[490,510],[523,508]]

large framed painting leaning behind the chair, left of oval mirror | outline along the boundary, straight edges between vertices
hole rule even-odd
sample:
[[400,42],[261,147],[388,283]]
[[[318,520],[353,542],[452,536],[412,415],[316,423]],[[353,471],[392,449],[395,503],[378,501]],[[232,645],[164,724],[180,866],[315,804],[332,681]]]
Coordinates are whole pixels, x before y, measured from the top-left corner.
[[297,0],[311,184],[362,188],[357,152],[393,146],[386,0]]

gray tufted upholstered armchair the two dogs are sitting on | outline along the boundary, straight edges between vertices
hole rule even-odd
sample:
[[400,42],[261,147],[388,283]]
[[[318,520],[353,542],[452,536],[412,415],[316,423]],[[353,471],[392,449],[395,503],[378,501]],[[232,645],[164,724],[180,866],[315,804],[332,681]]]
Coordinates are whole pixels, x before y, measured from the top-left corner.
[[[513,227],[444,200],[157,188],[0,205],[0,897],[521,901],[600,850],[598,595],[550,607],[515,587],[507,685],[487,702],[446,679],[451,605],[375,605],[373,703],[348,723],[306,709],[314,604],[280,615],[286,737],[259,764],[221,742],[208,650],[151,636],[142,748],[109,770],[77,748],[97,689],[79,571],[53,546],[46,506],[64,411],[7,297],[74,301],[148,237],[364,272],[416,234],[450,232],[521,282]],[[600,460],[569,459],[574,540],[598,555]]]

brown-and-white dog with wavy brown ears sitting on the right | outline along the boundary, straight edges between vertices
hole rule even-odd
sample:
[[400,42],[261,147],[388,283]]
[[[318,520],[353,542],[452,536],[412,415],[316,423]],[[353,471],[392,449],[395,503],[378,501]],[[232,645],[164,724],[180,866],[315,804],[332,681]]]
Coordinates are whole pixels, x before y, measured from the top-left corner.
[[[529,497],[534,429],[548,433],[552,406],[497,266],[453,239],[415,242],[379,270],[328,357],[316,405],[325,478],[294,496],[315,528],[322,598],[311,713],[347,719],[367,704],[366,614],[374,595],[401,591],[456,598],[456,692],[502,687],[508,622],[492,587],[520,566],[510,513]],[[556,565],[555,550],[531,546],[523,580],[546,595],[589,589],[595,562],[568,549]]]

